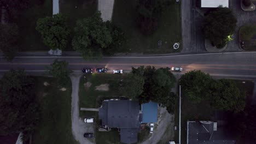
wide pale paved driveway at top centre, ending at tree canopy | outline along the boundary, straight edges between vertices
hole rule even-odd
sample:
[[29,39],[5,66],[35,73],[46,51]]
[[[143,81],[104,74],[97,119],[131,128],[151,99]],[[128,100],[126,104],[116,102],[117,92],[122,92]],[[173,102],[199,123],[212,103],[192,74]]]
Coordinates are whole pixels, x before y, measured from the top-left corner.
[[98,10],[101,11],[103,21],[111,21],[114,9],[114,0],[98,0]]

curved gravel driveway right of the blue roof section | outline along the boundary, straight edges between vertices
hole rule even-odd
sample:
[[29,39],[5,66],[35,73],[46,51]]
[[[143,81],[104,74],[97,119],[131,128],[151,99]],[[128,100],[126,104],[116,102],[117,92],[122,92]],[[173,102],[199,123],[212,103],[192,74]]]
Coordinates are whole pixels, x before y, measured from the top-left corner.
[[155,124],[153,134],[141,144],[155,144],[159,141],[168,141],[174,136],[174,116],[166,111],[164,107],[158,107],[158,122]]

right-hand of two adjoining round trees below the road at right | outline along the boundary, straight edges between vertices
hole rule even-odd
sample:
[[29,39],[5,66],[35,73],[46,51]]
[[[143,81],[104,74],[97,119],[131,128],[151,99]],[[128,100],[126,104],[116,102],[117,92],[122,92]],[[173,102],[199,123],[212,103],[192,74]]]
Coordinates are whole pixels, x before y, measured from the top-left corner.
[[221,79],[212,83],[211,104],[220,110],[243,111],[245,93],[232,80]]

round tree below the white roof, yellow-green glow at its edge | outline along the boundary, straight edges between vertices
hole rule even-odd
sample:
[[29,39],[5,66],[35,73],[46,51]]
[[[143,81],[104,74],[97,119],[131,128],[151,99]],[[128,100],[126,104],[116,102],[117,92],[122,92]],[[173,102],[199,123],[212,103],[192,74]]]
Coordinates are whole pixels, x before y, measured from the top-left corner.
[[229,8],[218,8],[205,16],[203,31],[214,46],[222,48],[228,43],[228,36],[234,34],[236,17]]

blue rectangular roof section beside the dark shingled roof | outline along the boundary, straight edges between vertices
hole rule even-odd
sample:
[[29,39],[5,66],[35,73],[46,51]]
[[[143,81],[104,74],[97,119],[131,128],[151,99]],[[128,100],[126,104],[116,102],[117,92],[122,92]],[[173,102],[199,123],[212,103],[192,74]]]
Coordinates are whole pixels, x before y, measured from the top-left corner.
[[158,122],[158,103],[150,101],[141,105],[142,122],[141,123],[155,123]]

